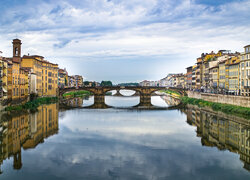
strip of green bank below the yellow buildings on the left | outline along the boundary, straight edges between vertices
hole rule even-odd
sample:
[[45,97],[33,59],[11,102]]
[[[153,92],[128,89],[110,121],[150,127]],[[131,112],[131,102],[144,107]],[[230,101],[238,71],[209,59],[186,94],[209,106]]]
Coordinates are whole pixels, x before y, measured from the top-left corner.
[[36,110],[42,104],[51,104],[58,102],[58,97],[42,97],[26,102],[25,104],[8,106],[5,111],[22,111],[22,110]]

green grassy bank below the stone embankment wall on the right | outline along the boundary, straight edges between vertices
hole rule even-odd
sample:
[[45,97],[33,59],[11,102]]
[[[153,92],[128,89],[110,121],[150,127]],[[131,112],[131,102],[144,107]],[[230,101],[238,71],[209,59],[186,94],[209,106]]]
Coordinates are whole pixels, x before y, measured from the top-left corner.
[[250,108],[247,107],[205,101],[202,99],[190,98],[187,96],[181,97],[180,99],[181,102],[185,105],[192,104],[197,105],[199,107],[210,107],[214,111],[221,111],[227,114],[232,114],[250,119]]

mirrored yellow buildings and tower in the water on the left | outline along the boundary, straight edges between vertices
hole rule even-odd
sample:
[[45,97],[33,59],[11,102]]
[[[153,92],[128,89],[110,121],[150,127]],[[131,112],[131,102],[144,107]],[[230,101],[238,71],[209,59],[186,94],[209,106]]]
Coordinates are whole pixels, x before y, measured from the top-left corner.
[[21,149],[36,147],[45,138],[58,132],[58,105],[43,105],[35,113],[4,114],[0,118],[1,164],[13,157],[13,168],[22,167]]

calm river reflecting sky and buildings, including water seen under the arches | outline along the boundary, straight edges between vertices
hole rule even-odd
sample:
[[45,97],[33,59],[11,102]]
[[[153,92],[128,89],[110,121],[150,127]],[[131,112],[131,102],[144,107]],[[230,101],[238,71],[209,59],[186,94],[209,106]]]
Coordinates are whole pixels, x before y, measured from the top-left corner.
[[[249,120],[192,106],[125,108],[138,102],[107,96],[121,108],[50,104],[2,115],[0,179],[250,179]],[[154,96],[152,103],[173,101]]]

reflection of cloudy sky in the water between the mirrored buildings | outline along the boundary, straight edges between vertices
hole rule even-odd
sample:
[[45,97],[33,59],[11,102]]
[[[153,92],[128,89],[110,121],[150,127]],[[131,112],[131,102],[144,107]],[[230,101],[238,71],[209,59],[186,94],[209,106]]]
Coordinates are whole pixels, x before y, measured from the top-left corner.
[[8,177],[247,179],[237,154],[201,146],[195,127],[185,121],[178,111],[60,112],[59,134],[23,151],[22,170]]

